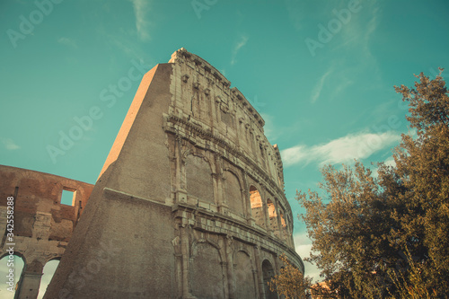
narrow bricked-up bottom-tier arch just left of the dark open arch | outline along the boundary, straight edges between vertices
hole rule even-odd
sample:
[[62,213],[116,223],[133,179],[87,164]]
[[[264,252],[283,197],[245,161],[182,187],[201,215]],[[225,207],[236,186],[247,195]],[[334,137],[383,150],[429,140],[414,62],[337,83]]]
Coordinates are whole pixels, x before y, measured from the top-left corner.
[[256,276],[251,255],[239,250],[234,253],[235,298],[256,298]]

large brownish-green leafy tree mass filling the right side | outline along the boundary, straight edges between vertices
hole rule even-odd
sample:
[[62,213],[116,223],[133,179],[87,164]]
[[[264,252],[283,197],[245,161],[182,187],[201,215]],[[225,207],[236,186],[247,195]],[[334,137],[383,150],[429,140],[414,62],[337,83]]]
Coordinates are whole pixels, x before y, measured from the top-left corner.
[[449,98],[441,73],[417,78],[414,88],[395,86],[416,129],[402,135],[395,167],[379,163],[374,177],[359,162],[325,166],[327,198],[297,193],[316,252],[306,260],[340,297],[400,297],[402,286],[418,283],[426,294],[449,294]]

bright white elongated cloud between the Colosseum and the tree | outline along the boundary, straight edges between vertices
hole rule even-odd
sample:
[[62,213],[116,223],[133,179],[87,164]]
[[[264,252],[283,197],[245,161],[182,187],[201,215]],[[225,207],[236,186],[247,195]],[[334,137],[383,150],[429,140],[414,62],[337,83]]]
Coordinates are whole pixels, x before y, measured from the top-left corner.
[[284,165],[298,163],[337,164],[354,159],[365,159],[370,155],[401,140],[401,135],[388,131],[382,134],[359,132],[331,140],[323,145],[295,145],[281,152]]

